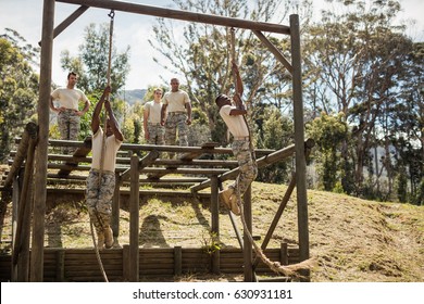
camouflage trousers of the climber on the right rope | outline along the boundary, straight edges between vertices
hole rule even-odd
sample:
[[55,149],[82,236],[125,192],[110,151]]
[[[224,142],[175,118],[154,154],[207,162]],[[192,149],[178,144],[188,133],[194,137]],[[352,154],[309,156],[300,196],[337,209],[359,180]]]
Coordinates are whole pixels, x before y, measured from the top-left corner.
[[253,161],[248,140],[235,140],[232,145],[233,154],[237,159],[239,174],[236,180],[229,186],[239,193],[240,198],[249,188],[250,183],[257,178],[258,166]]

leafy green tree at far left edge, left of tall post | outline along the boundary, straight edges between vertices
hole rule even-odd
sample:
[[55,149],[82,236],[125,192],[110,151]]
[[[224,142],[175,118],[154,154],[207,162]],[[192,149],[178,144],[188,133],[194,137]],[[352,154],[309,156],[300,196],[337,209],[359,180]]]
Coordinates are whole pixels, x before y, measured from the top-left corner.
[[7,29],[0,36],[0,162],[11,150],[14,137],[36,113],[38,75],[33,71],[37,49],[22,43],[26,40]]

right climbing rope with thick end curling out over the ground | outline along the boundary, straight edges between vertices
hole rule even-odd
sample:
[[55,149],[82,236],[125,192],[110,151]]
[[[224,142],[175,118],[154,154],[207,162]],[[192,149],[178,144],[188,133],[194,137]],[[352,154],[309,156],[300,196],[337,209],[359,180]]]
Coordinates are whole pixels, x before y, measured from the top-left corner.
[[[236,63],[236,38],[235,38],[234,27],[230,28],[230,45],[232,45],[232,48],[230,48],[232,61],[233,61],[233,63]],[[238,87],[236,73],[234,72],[233,68],[232,68],[232,71],[233,71],[233,81],[234,81],[235,90],[236,90],[236,93],[238,94],[241,91],[241,88]],[[241,96],[240,96],[240,101],[241,101]],[[241,107],[241,105],[242,104],[237,104],[238,107]],[[246,115],[242,115],[242,117],[244,117],[244,121],[245,121],[246,126],[247,126],[248,131],[249,131],[250,153],[252,155],[253,162],[255,163],[257,159],[255,159],[255,154],[254,154],[254,147],[253,147],[251,131],[250,131]],[[238,183],[237,183],[237,186],[238,186]],[[283,274],[283,275],[289,276],[289,277],[300,277],[300,275],[298,274],[299,270],[311,269],[315,264],[312,259],[307,259],[307,261],[303,261],[301,263],[294,264],[294,265],[280,265],[279,262],[272,262],[270,258],[266,257],[266,255],[263,253],[262,249],[254,242],[253,237],[249,230],[249,227],[246,224],[244,203],[241,202],[241,194],[240,194],[239,187],[237,187],[237,189],[235,189],[235,190],[236,190],[237,204],[240,208],[240,219],[242,223],[242,227],[244,227],[244,230],[246,232],[246,236],[248,237],[249,241],[251,242],[251,244],[253,246],[253,250],[254,250],[257,256],[259,256],[262,259],[262,262],[265,265],[267,265],[270,267],[270,269],[273,270],[274,273]]]

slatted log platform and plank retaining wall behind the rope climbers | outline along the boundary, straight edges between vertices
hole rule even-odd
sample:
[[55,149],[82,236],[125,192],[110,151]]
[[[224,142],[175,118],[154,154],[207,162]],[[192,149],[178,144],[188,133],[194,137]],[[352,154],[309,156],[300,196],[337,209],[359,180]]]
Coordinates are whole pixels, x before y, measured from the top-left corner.
[[[25,138],[25,137],[23,137]],[[33,141],[32,149],[35,150]],[[42,244],[43,236],[38,236],[37,243],[32,243],[30,249],[23,249],[24,244],[29,244],[29,232],[23,233],[24,229],[30,230],[30,218],[27,213],[28,208],[17,208],[17,203],[22,201],[29,202],[27,198],[27,189],[29,187],[30,175],[22,175],[22,169],[32,168],[32,160],[34,153],[26,153],[23,143],[20,142],[16,155],[11,161],[11,167],[5,179],[0,178],[0,190],[9,193],[12,186],[17,186],[13,190],[13,206],[14,211],[20,211],[17,223],[24,223],[18,229],[13,250],[12,263],[11,255],[0,255],[0,280],[18,281],[20,278],[27,280],[26,265],[39,268],[33,275],[41,273],[43,278],[37,278],[42,281],[103,281],[103,276],[100,271],[97,257],[93,249],[46,249]],[[89,155],[90,141],[72,142],[50,140],[49,149],[54,152],[57,148],[72,147],[76,148],[73,155],[57,155],[48,154],[48,175],[43,190],[47,190],[47,200],[41,202],[47,204],[49,198],[55,201],[66,199],[73,201],[72,195],[84,195],[84,183],[82,181],[87,178],[87,173],[90,169],[91,157]],[[305,149],[308,141],[305,142]],[[120,229],[119,211],[127,205],[130,213],[130,240],[129,244],[123,249],[113,249],[103,251],[101,258],[105,273],[110,281],[138,281],[141,277],[151,278],[155,281],[159,276],[172,278],[174,276],[185,274],[237,274],[245,275],[246,281],[254,281],[255,276],[261,274],[270,274],[276,276],[262,262],[252,264],[254,254],[242,245],[244,240],[238,227],[232,220],[238,243],[241,249],[223,249],[213,255],[209,255],[202,249],[139,249],[139,223],[138,213],[140,201],[149,195],[154,197],[173,197],[173,198],[192,198],[204,199],[211,210],[211,230],[219,233],[219,182],[224,182],[228,179],[234,179],[239,173],[237,161],[234,159],[233,152],[228,148],[219,148],[216,143],[204,143],[201,147],[175,147],[175,145],[146,145],[146,144],[122,144],[115,168],[116,188],[113,200],[112,226]],[[177,157],[173,160],[159,159],[164,153],[176,153]],[[257,160],[258,167],[264,167],[270,164],[283,161],[286,157],[292,156],[295,145],[289,145],[285,149],[273,150],[255,150],[255,154],[263,156]],[[127,155],[125,157],[125,154]],[[25,161],[25,155],[29,155]],[[25,165],[25,166],[24,166]],[[27,177],[25,179],[25,176]],[[18,177],[16,179],[16,177]],[[22,185],[15,181],[22,179]],[[141,183],[150,183],[149,189],[140,187]],[[294,185],[290,182],[290,185]],[[160,188],[166,188],[159,190]],[[21,189],[22,188],[22,189]],[[208,189],[210,188],[210,189]],[[274,223],[279,219],[285,204],[291,194],[294,187],[288,188],[288,192],[284,195],[280,207],[270,225],[269,232],[264,239],[263,245],[266,246],[269,239],[272,237]],[[290,189],[290,190],[289,190]],[[202,191],[205,190],[205,191]],[[21,199],[22,198],[22,199]],[[126,199],[128,203],[126,203]],[[249,197],[247,197],[250,200]],[[7,202],[2,202],[7,205]],[[23,204],[25,206],[25,204]],[[230,214],[232,215],[232,214]],[[251,217],[250,211],[247,208],[247,218]],[[232,218],[232,216],[230,216]],[[42,214],[41,214],[42,219]],[[39,220],[39,219],[38,219]],[[35,231],[32,231],[33,239]],[[20,246],[23,249],[20,251]],[[247,248],[250,248],[249,245]],[[20,254],[17,252],[21,252]],[[295,264],[300,259],[299,249],[282,250],[266,249],[265,254],[271,261],[279,262],[283,265]],[[43,256],[41,263],[30,264],[28,258],[34,255],[36,258]],[[18,261],[16,263],[16,261]],[[13,265],[12,265],[13,264]],[[41,265],[42,264],[42,265]],[[39,266],[37,266],[39,265]],[[13,266],[13,276],[12,276]],[[43,269],[43,271],[41,271]],[[33,269],[30,269],[33,270]],[[30,271],[29,270],[29,271]],[[38,275],[37,275],[38,276]],[[24,280],[24,279],[22,279]],[[150,279],[147,279],[149,281]],[[280,278],[278,278],[280,280]]]

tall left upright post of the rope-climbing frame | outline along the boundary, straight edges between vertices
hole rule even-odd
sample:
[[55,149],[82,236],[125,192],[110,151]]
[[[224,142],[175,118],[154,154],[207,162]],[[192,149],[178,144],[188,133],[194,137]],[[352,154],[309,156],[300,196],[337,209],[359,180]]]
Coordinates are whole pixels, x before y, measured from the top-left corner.
[[43,245],[46,215],[46,183],[49,145],[49,114],[51,92],[51,62],[53,51],[54,0],[45,0],[42,9],[40,91],[38,100],[38,147],[36,161],[37,182],[34,189],[33,248],[30,258],[30,281],[41,282],[43,278]]

